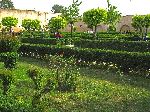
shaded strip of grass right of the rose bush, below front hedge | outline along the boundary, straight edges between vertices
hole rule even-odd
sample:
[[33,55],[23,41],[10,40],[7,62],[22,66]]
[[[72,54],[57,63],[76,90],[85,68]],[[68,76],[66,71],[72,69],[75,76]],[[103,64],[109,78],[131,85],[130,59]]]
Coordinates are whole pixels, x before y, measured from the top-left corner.
[[80,73],[83,76],[98,80],[110,81],[121,85],[130,85],[133,87],[144,88],[150,91],[150,79],[138,75],[122,75],[112,70],[81,68]]

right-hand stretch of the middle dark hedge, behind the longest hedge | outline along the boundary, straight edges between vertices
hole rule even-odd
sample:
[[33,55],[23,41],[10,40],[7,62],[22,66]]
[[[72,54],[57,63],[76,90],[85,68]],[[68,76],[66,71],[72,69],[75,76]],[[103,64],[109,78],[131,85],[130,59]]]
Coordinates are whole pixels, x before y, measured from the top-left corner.
[[149,41],[119,41],[119,40],[77,40],[75,46],[81,48],[98,48],[107,50],[150,52]]

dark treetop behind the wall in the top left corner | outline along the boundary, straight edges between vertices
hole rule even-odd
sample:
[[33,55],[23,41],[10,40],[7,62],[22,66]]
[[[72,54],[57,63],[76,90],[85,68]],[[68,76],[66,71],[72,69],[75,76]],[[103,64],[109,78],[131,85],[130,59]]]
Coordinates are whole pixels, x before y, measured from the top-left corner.
[[0,1],[0,8],[2,9],[14,9],[14,4],[11,0],[1,0]]

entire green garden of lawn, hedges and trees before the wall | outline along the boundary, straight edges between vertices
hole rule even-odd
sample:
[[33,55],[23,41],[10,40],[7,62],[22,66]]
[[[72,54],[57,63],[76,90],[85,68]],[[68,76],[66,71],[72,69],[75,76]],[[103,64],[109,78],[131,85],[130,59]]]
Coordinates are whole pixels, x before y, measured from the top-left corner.
[[[2,19],[0,112],[150,111],[150,41],[144,39],[150,16],[134,16],[135,32],[122,34],[114,27],[120,13],[109,4],[108,12],[83,14],[93,34],[75,32],[80,4],[74,2],[45,27],[24,19],[19,34],[12,31],[17,18]],[[97,32],[104,20],[108,31]],[[66,24],[71,31],[61,32]]]

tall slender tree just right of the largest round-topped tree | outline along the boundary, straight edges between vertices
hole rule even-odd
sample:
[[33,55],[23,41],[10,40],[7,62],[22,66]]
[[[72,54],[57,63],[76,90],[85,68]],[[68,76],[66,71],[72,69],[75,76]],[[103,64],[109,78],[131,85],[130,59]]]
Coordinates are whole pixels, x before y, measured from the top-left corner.
[[108,25],[108,31],[116,31],[116,24],[121,18],[121,13],[117,11],[117,7],[110,4],[107,0],[108,9],[107,9],[107,19],[106,24]]

